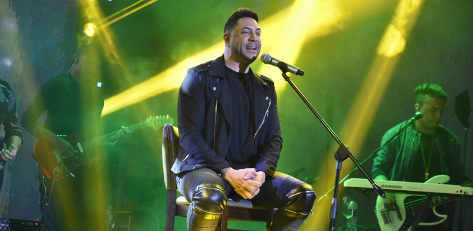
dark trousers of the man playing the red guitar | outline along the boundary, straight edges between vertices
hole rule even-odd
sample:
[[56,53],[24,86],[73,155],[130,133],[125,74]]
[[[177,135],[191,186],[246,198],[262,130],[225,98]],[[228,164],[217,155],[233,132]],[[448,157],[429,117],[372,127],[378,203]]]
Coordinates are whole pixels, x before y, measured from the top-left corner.
[[[115,150],[111,143],[104,145],[108,153]],[[98,151],[102,151],[98,149]],[[97,152],[98,152],[97,151]],[[93,153],[92,153],[93,152]],[[90,151],[100,156],[100,161],[81,165],[74,170],[75,177],[68,176],[54,182],[39,175],[41,195],[41,226],[44,231],[105,231],[109,222],[107,209],[110,205],[108,155]],[[99,169],[101,169],[99,171]],[[51,193],[52,192],[52,193]],[[49,204],[47,200],[51,196]]]

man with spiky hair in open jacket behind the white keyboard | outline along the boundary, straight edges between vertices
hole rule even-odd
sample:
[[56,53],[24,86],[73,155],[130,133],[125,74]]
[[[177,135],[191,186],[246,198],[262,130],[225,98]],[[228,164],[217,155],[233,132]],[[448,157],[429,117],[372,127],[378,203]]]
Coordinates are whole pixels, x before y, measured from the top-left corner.
[[[445,174],[451,177],[449,184],[468,182],[461,164],[460,142],[450,130],[439,124],[447,102],[447,93],[441,86],[433,83],[420,84],[414,92],[414,110],[421,112],[423,117],[378,152],[373,162],[372,177],[376,180],[425,182],[432,176]],[[404,124],[402,122],[388,130],[381,144],[396,134]],[[384,204],[387,209],[395,210],[397,204],[394,194],[386,194]],[[445,211],[442,208],[437,210],[441,214],[450,215],[445,223],[430,227],[419,226],[416,230],[452,230],[453,208],[450,205],[444,206]],[[440,220],[435,218],[426,209],[421,222]]]

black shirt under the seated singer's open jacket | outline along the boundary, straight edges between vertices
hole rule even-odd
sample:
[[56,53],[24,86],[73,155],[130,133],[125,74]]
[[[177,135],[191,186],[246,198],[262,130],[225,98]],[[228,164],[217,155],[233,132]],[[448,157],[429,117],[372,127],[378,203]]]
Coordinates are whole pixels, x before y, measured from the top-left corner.
[[253,146],[253,79],[249,73],[237,73],[226,67],[229,79],[232,107],[233,125],[231,132],[230,150],[227,161],[233,168],[247,168],[252,163],[256,154]]

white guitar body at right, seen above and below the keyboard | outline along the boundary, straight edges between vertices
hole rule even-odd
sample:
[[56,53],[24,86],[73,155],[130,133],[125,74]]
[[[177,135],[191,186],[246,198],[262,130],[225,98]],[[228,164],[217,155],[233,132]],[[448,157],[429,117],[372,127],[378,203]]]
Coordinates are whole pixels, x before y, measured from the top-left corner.
[[[431,184],[444,184],[450,181],[450,176],[437,175],[428,179],[425,183]],[[398,211],[389,211],[384,207],[383,198],[378,196],[376,199],[376,218],[378,219],[378,225],[381,231],[410,231],[411,226],[404,224],[406,222],[406,209],[404,207],[404,201],[407,197],[425,197],[425,195],[416,194],[403,194],[396,193],[396,204],[398,205]],[[427,208],[428,209],[428,208]],[[433,213],[440,218],[437,222],[432,223],[419,223],[419,226],[435,226],[441,224],[447,220],[447,215],[439,214],[436,211],[436,207],[433,207]]]

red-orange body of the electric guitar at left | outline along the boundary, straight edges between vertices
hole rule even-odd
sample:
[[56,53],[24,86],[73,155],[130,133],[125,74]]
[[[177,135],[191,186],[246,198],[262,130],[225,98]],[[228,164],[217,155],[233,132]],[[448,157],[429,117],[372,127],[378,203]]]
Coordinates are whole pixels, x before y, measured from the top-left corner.
[[34,144],[34,157],[44,176],[56,181],[66,178],[81,164],[78,159],[63,157],[52,144],[41,139]]

